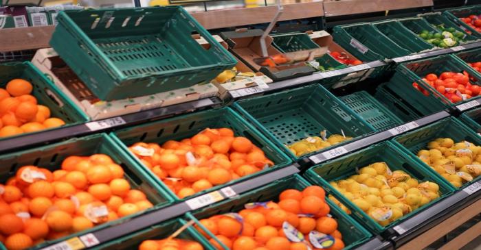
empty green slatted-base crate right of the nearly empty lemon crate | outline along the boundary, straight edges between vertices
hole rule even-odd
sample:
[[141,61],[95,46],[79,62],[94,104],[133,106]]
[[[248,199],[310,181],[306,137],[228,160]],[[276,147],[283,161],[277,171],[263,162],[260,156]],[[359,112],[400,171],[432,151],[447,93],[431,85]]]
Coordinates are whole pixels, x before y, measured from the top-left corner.
[[[354,110],[364,121],[368,122],[377,131],[383,131],[396,125],[403,123],[400,118],[397,118],[388,108],[366,91],[355,92],[344,97],[339,97],[344,103]],[[335,105],[333,109],[338,109]]]

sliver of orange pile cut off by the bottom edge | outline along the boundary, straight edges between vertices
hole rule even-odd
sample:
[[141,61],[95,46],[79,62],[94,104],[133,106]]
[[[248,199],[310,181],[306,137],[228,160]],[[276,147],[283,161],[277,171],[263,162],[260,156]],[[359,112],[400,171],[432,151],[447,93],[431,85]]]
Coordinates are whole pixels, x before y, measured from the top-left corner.
[[165,239],[165,240],[144,240],[139,245],[139,250],[203,250],[199,242],[192,240]]

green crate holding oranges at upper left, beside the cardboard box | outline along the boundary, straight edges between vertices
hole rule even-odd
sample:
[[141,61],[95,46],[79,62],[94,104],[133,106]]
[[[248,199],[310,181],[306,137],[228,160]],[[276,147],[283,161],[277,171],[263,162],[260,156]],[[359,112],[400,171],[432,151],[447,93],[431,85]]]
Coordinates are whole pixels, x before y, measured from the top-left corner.
[[32,95],[38,104],[47,106],[52,117],[65,121],[63,127],[89,121],[87,115],[30,62],[0,64],[0,88],[5,88],[15,78],[25,79],[32,84]]

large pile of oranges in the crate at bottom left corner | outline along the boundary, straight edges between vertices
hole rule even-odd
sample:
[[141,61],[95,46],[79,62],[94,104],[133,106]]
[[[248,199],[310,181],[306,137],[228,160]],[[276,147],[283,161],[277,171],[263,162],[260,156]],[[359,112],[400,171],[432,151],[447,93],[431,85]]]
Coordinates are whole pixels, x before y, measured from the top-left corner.
[[69,156],[56,171],[22,166],[0,185],[0,241],[32,247],[153,207],[108,155]]

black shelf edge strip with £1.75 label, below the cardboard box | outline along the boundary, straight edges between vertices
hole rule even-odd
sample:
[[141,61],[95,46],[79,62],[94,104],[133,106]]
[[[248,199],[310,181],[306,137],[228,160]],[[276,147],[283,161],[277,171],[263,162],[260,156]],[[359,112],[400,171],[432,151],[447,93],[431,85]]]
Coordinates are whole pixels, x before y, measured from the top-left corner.
[[78,125],[59,127],[58,129],[47,130],[44,132],[6,138],[4,140],[0,140],[0,154],[19,151],[27,147],[30,148],[47,145],[53,142],[66,140],[68,138],[108,132],[119,127],[135,125],[137,123],[152,121],[158,118],[165,118],[166,116],[173,116],[175,114],[182,114],[191,110],[209,108],[220,102],[220,100],[217,101],[216,99],[210,98],[199,99],[196,101],[179,103],[162,108],[155,108],[153,110],[144,110],[142,112],[133,114],[115,116],[113,118],[107,118],[100,121],[90,121]]

